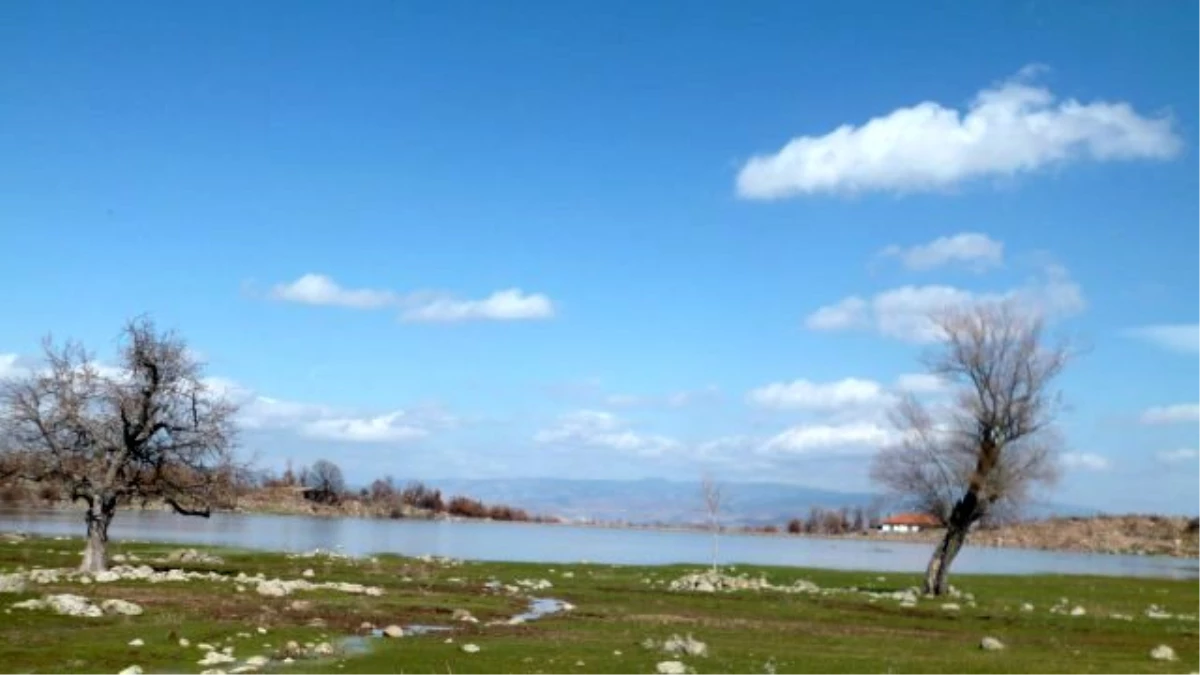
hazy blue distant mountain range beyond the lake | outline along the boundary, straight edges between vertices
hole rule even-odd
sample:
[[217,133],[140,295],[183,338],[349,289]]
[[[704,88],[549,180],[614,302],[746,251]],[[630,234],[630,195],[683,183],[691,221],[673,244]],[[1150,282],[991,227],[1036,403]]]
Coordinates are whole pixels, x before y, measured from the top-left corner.
[[[706,518],[700,485],[648,478],[642,480],[572,480],[558,478],[497,478],[425,480],[443,495],[467,495],[486,503],[504,503],[568,520],[688,524]],[[785,483],[724,485],[721,520],[730,525],[784,525],[812,507],[871,507],[887,512],[870,492],[842,492]],[[1038,504],[1030,515],[1091,515],[1093,509]]]

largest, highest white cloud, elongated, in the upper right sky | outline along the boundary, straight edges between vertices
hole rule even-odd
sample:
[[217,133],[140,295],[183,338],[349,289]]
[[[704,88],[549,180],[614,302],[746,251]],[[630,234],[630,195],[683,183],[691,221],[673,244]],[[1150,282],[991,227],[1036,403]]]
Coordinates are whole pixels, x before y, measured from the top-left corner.
[[1144,117],[1126,102],[1057,101],[1032,83],[1033,72],[979,91],[961,112],[925,101],[792,138],[742,167],[738,195],[937,191],[1084,160],[1166,160],[1182,149],[1170,118]]

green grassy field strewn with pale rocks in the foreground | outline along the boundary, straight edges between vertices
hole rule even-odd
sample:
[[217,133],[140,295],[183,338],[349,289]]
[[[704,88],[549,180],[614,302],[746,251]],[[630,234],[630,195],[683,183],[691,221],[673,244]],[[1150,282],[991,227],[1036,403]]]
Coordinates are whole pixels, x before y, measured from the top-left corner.
[[[68,568],[82,542],[29,538],[0,540],[0,572],[34,567]],[[893,598],[863,592],[902,591],[916,574],[847,573],[820,569],[737,567],[775,585],[812,581],[829,592],[670,591],[666,583],[689,567],[598,565],[448,563],[380,555],[367,558],[289,557],[228,549],[200,549],[223,562],[152,563],[176,546],[114,543],[112,554],[134,555],[157,569],[182,568],[264,574],[268,579],[348,581],[383,589],[379,597],[334,590],[294,591],[265,597],[253,583],[119,580],[84,584],[79,579],[30,584],[25,592],[0,593],[0,670],[4,673],[118,673],[139,665],[145,673],[200,673],[198,644],[233,646],[234,656],[282,658],[288,641],[301,649],[329,643],[331,657],[272,662],[275,671],[502,674],[502,673],[655,673],[664,661],[682,661],[695,673],[1193,673],[1200,671],[1200,584],[1195,581],[1090,577],[956,577],[973,596],[920,599],[905,608]],[[583,557],[584,551],[581,551]],[[487,583],[548,580],[552,587],[496,592]],[[853,589],[853,590],[852,590]],[[12,609],[19,601],[48,593],[74,593],[95,602],[121,598],[140,604],[139,616],[72,617],[49,610]],[[487,626],[522,611],[529,595],[568,601],[575,609],[520,626]],[[1051,613],[1081,607],[1082,616]],[[299,603],[296,601],[300,601]],[[942,608],[955,602],[958,611]],[[1033,610],[1022,610],[1030,603]],[[1150,619],[1158,605],[1170,619]],[[454,622],[468,610],[478,625]],[[1115,619],[1126,615],[1132,620]],[[1178,615],[1190,615],[1180,617]],[[319,620],[316,621],[314,620]],[[454,625],[449,634],[400,639],[366,638],[361,625]],[[316,623],[316,625],[314,625]],[[264,629],[264,632],[259,631]],[[708,656],[668,656],[647,649],[690,633]],[[984,651],[995,637],[1001,651]],[[190,646],[180,646],[180,638]],[[144,641],[133,647],[134,639]],[[452,640],[448,643],[446,640]],[[476,653],[463,646],[476,645]],[[1150,657],[1166,644],[1176,662]]]

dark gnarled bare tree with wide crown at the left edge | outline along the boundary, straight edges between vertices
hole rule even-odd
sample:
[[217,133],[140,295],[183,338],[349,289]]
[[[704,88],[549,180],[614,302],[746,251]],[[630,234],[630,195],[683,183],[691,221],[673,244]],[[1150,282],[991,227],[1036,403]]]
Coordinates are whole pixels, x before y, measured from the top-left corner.
[[206,518],[239,476],[236,408],[204,386],[184,340],[139,318],[115,368],[77,342],[47,338],[43,352],[42,368],[0,382],[0,464],[86,506],[82,569],[107,567],[119,506],[156,501]]

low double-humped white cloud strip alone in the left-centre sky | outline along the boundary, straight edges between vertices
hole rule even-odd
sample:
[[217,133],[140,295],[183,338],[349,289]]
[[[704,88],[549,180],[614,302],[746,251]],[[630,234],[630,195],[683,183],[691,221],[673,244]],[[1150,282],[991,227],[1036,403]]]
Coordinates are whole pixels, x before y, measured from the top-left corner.
[[278,283],[268,294],[275,300],[356,310],[395,309],[401,319],[422,323],[464,321],[522,321],[551,318],[554,304],[542,293],[520,288],[497,291],[478,300],[434,291],[397,293],[377,288],[346,288],[323,274],[305,274]]

